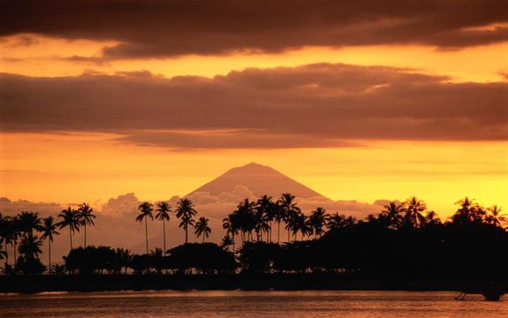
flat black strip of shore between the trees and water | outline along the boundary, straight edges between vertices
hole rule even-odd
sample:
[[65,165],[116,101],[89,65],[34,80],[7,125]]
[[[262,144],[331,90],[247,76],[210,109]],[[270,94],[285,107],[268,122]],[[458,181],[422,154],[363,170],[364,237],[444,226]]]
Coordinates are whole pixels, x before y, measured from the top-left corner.
[[345,277],[335,275],[107,275],[1,276],[0,293],[120,291],[411,291],[481,292],[508,282],[458,277]]

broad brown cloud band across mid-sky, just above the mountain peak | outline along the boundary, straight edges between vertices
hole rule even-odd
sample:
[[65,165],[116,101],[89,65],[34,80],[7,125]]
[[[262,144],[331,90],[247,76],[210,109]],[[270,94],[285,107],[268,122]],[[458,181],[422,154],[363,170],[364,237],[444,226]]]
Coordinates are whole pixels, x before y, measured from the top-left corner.
[[0,129],[109,132],[171,148],[352,146],[348,140],[507,140],[508,83],[450,83],[346,64],[212,79],[149,72],[0,76]]

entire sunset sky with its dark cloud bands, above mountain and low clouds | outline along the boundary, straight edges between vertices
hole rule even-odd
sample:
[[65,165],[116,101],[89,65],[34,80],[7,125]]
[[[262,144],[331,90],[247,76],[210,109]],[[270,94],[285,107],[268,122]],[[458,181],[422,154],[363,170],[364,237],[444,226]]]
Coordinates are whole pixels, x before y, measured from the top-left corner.
[[333,200],[508,209],[505,1],[0,6],[0,196],[163,200],[255,162]]

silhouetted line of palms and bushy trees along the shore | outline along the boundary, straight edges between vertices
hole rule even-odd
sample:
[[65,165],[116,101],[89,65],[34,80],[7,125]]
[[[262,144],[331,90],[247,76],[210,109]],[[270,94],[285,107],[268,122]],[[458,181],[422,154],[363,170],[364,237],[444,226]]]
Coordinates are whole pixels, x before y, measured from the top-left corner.
[[[127,269],[135,274],[198,272],[343,272],[387,271],[413,268],[448,272],[484,268],[501,269],[499,251],[508,244],[508,218],[501,208],[483,208],[465,198],[457,202],[457,212],[446,221],[427,209],[424,201],[412,197],[403,203],[391,201],[378,214],[358,220],[339,213],[327,214],[316,208],[304,214],[295,196],[283,193],[277,200],[264,195],[257,201],[244,199],[222,222],[226,235],[220,245],[205,243],[212,229],[209,220],[196,218],[189,199],[181,199],[172,209],[167,201],[142,202],[136,222],[144,223],[146,253],[127,249],[88,246],[87,226],[96,216],[88,204],[66,208],[58,215],[39,218],[36,213],[0,217],[0,258],[4,273],[40,274],[119,274]],[[185,232],[184,244],[167,250],[165,223],[174,215]],[[161,221],[162,248],[149,250],[148,220]],[[51,266],[50,246],[58,230],[67,229],[71,250],[64,265]],[[189,229],[202,243],[189,244]],[[83,246],[73,248],[73,233],[83,230]],[[275,240],[276,231],[276,240]],[[281,243],[285,232],[287,240]],[[49,266],[39,260],[42,241],[49,242]],[[240,245],[236,248],[235,241]],[[7,245],[12,245],[14,263],[9,264]],[[4,246],[5,248],[2,248]],[[476,247],[472,249],[472,247]],[[16,253],[19,253],[17,257]],[[481,260],[481,261],[480,261]],[[480,263],[479,263],[480,262]],[[49,269],[49,270],[48,270]]]

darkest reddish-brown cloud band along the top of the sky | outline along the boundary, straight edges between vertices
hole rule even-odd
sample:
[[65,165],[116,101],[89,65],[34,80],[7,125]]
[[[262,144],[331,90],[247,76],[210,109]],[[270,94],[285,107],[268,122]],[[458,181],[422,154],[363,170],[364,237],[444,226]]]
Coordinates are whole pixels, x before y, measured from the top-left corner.
[[104,49],[105,58],[370,44],[453,49],[508,41],[504,0],[18,0],[3,2],[0,21],[0,35],[119,42]]

